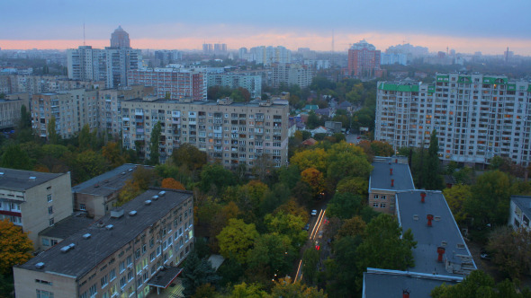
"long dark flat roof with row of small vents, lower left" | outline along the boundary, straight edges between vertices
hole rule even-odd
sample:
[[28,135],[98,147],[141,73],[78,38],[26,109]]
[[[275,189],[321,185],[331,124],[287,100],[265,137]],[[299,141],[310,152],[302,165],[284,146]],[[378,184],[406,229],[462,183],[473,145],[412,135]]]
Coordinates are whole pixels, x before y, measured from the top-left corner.
[[[161,190],[166,191],[165,196],[152,200],[151,205],[144,204],[146,200],[151,199]],[[104,259],[121,250],[140,232],[148,229],[153,223],[166,216],[171,209],[181,205],[190,197],[193,197],[190,191],[150,188],[139,197],[135,197],[129,203],[121,206],[124,212],[121,218],[112,218],[112,214],[105,215],[97,222],[72,234],[58,245],[40,253],[19,267],[77,278],[85,276]],[[129,213],[133,210],[137,214],[130,216]],[[109,224],[112,224],[110,230],[106,228]],[[84,235],[87,233],[90,233],[91,236],[85,239]],[[75,248],[66,253],[62,252],[61,249],[70,243],[74,243]],[[44,263],[44,267],[36,268],[37,263]]]

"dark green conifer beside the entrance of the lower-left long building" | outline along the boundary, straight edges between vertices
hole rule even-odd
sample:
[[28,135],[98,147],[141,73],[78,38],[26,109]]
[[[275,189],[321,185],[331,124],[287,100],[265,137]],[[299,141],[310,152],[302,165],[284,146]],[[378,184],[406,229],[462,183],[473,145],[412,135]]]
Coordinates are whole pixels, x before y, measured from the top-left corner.
[[220,280],[220,276],[216,275],[208,259],[199,259],[193,252],[184,262],[181,280],[184,286],[183,294],[191,296],[200,285],[215,284]]

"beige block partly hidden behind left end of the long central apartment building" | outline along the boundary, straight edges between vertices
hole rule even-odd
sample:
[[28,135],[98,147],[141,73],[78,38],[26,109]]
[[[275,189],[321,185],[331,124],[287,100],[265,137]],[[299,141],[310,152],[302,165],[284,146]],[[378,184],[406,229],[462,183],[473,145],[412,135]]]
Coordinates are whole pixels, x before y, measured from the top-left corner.
[[152,95],[153,87],[131,85],[98,92],[98,119],[100,131],[118,135],[121,132],[121,101]]

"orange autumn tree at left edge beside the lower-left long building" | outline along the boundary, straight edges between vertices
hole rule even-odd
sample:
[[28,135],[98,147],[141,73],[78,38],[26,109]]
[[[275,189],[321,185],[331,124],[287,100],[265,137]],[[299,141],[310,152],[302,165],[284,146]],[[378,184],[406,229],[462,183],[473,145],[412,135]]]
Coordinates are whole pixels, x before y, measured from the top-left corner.
[[31,259],[33,243],[27,232],[4,219],[0,221],[0,248],[0,274],[7,275],[14,265]]

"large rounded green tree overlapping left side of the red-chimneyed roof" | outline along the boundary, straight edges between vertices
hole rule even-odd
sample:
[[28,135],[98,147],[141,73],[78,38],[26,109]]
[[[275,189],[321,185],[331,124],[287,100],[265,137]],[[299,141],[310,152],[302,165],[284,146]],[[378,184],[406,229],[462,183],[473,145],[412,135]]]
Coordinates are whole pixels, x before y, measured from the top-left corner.
[[417,246],[409,229],[402,233],[392,215],[381,214],[367,224],[364,241],[356,250],[360,268],[405,270],[414,267],[412,249]]

